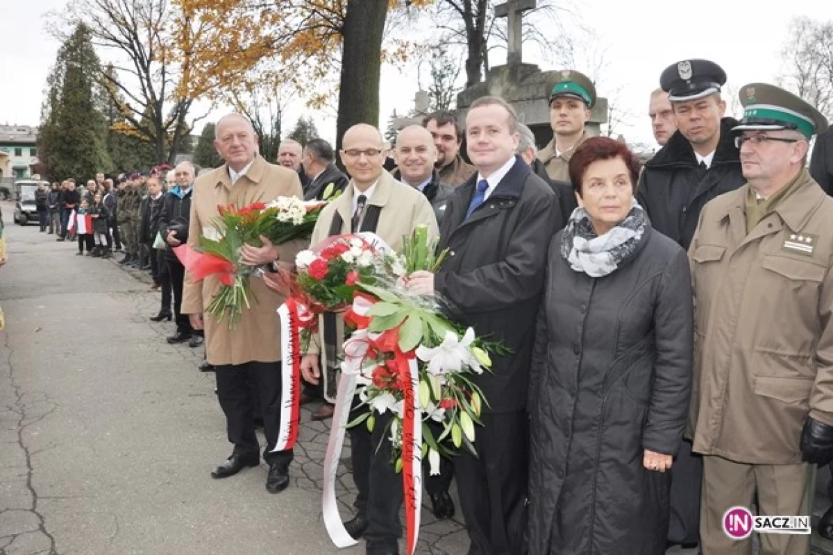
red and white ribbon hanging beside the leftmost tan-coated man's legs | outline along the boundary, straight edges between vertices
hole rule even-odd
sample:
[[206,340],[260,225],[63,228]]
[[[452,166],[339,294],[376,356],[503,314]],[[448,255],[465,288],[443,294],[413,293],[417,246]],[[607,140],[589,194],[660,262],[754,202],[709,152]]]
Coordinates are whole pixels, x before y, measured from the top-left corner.
[[281,318],[281,419],[277,429],[277,443],[272,452],[285,451],[295,446],[301,424],[301,329],[315,315],[298,305],[292,297],[277,309]]

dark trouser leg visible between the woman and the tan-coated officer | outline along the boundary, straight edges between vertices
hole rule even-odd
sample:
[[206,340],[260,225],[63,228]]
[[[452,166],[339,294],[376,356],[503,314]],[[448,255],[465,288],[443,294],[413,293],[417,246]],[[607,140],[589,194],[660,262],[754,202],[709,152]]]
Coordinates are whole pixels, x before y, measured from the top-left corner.
[[703,481],[703,458],[691,453],[691,442],[683,439],[674,458],[671,473],[671,518],[668,541],[672,543],[700,542],[700,497]]

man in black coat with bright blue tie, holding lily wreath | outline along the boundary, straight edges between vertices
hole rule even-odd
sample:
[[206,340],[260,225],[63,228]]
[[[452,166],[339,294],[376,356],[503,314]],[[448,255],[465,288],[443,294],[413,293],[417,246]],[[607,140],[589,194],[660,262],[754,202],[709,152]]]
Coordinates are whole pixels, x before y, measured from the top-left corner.
[[436,291],[453,316],[511,354],[494,355],[476,376],[489,403],[474,447],[454,461],[468,553],[526,553],[529,463],[527,386],[536,312],[552,235],[563,226],[556,195],[515,155],[515,111],[482,97],[466,116],[467,149],[477,173],[450,197],[440,235],[448,256],[436,275],[416,272],[416,293]]

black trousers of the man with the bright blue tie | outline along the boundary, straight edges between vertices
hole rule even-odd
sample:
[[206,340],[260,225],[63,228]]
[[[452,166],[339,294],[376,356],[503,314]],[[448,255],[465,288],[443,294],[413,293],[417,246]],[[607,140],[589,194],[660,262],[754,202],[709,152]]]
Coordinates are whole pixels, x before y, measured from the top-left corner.
[[469,555],[526,553],[529,417],[525,411],[483,414],[474,447],[454,461]]

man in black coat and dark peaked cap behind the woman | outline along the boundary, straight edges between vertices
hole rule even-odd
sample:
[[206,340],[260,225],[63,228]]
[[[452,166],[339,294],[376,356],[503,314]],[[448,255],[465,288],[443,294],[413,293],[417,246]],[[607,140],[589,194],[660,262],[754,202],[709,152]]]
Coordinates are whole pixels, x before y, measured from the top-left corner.
[[[672,64],[660,77],[677,131],[646,162],[636,200],[653,228],[686,250],[706,202],[745,182],[741,154],[731,134],[737,121],[724,117],[721,87],[725,83],[726,72],[707,60]],[[669,543],[699,541],[702,476],[701,456],[691,453],[691,442],[683,441],[671,482]]]

